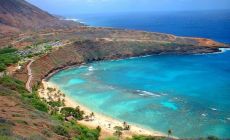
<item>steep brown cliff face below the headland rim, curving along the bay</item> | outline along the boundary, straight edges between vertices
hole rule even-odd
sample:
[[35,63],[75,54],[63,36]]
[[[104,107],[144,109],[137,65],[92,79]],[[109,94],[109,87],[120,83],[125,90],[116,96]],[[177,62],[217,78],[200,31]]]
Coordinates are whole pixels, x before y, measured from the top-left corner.
[[32,84],[55,70],[100,60],[111,60],[149,54],[196,54],[218,51],[215,47],[156,42],[77,41],[37,59],[32,65]]

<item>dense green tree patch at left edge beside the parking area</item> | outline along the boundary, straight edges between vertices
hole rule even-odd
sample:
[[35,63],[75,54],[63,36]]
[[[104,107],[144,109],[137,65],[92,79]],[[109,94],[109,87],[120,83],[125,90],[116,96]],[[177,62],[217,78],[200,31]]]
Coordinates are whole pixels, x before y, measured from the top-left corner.
[[0,49],[0,72],[6,70],[7,66],[15,64],[20,60],[16,51],[17,49],[11,47]]

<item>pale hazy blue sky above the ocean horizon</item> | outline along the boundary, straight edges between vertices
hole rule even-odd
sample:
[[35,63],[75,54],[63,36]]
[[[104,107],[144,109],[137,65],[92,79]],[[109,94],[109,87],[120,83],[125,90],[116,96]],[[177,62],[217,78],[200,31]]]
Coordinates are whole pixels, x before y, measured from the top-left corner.
[[230,0],[27,0],[58,15],[125,11],[230,9]]

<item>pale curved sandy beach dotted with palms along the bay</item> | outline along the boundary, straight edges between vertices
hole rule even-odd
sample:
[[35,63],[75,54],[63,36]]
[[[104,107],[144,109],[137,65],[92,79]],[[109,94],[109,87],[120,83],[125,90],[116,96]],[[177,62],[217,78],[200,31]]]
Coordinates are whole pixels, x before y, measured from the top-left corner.
[[[39,96],[41,98],[47,99],[52,97],[55,98],[55,92],[50,92],[48,88],[53,88],[55,91],[58,91],[59,88],[53,83],[47,82],[45,80],[42,81],[42,88],[39,89]],[[62,96],[62,99],[65,100],[65,106],[67,107],[77,107],[80,106],[80,109],[85,112],[85,115],[90,115],[92,111],[79,104],[76,101],[71,100],[69,97]],[[113,136],[113,133],[115,132],[114,127],[115,126],[123,126],[123,121],[102,115],[100,113],[94,112],[94,117],[92,120],[82,120],[78,121],[78,123],[83,124],[85,126],[88,126],[90,128],[96,128],[97,126],[100,126],[102,129],[101,131],[101,137],[100,139],[104,139],[105,137],[108,136]],[[158,132],[158,131],[153,131],[153,130],[148,130],[144,129],[140,126],[134,125],[134,124],[128,124],[130,125],[130,130],[124,130],[122,131],[122,139],[125,139],[127,137],[132,137],[133,135],[151,135],[151,136],[166,136],[166,134]]]

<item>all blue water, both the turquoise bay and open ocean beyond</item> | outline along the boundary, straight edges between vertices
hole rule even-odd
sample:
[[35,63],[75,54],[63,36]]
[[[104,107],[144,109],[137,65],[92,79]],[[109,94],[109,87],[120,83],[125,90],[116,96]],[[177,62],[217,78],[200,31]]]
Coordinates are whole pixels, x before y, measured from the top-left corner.
[[[229,43],[230,14],[226,12],[90,15],[80,19],[92,26]],[[93,111],[129,123],[165,133],[172,129],[173,135],[182,138],[230,138],[230,51],[94,62],[60,71],[49,81]]]

